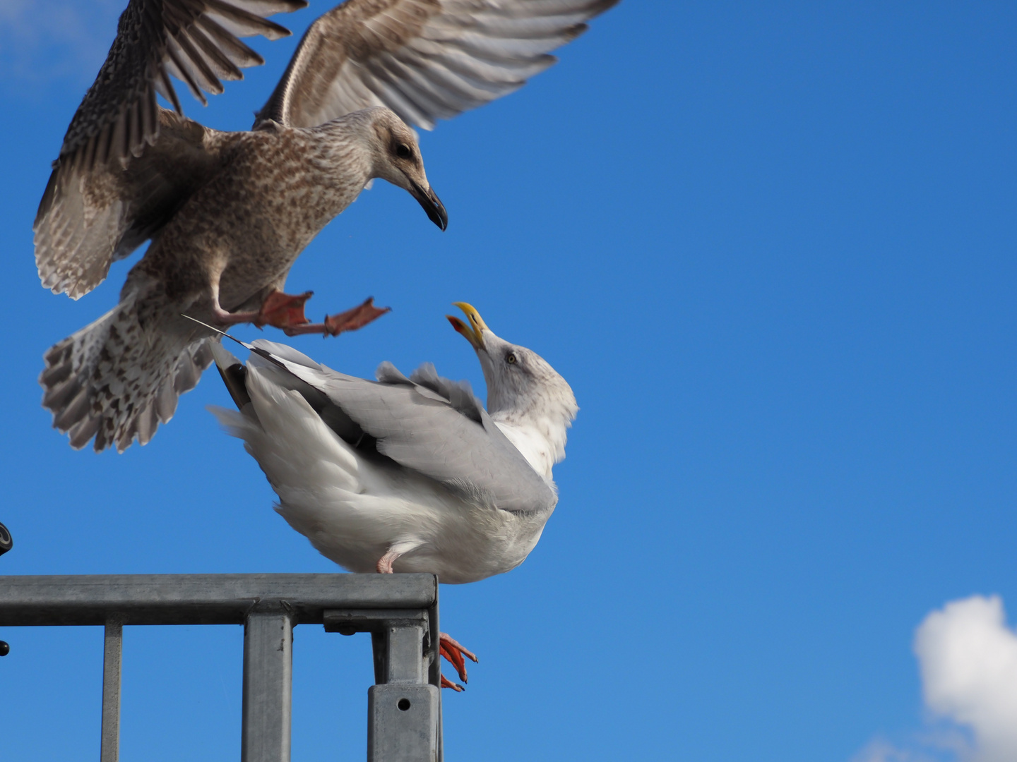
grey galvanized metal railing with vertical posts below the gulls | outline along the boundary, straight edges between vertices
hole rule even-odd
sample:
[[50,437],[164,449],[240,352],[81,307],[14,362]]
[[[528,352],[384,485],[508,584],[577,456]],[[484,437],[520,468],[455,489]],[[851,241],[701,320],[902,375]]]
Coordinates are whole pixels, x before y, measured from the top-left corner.
[[371,633],[368,762],[440,762],[432,574],[0,576],[0,627],[103,625],[101,762],[117,762],[125,625],[243,625],[242,762],[289,762],[293,628]]

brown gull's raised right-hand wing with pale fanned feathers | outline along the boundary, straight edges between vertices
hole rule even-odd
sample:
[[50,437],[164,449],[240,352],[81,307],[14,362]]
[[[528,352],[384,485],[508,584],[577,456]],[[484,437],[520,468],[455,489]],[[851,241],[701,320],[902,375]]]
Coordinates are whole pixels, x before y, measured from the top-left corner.
[[617,0],[347,0],[301,41],[258,121],[313,127],[371,106],[432,129],[507,94]]

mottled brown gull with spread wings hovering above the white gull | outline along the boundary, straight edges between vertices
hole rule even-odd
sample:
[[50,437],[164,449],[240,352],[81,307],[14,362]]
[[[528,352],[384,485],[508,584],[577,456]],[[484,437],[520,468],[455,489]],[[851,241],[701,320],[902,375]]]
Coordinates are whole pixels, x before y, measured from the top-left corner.
[[[370,300],[309,323],[284,294],[315,235],[373,179],[406,189],[444,230],[416,133],[522,86],[548,52],[617,0],[348,0],[308,28],[248,132],[180,114],[170,75],[202,103],[262,63],[237,36],[289,34],[263,16],[305,0],[130,0],[71,120],[35,223],[43,284],[77,299],[144,241],[120,303],[46,354],[53,425],[83,447],[144,444],[241,322],[335,335]],[[163,94],[174,111],[160,108]]]

